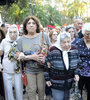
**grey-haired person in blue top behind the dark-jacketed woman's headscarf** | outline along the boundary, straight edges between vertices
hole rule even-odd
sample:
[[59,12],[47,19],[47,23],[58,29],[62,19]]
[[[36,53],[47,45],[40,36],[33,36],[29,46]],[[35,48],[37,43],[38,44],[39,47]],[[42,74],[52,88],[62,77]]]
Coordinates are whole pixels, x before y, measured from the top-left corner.
[[75,32],[75,28],[71,25],[68,25],[65,29],[66,32],[70,33],[71,35],[71,42],[72,44],[76,44],[76,42],[79,40],[79,38],[77,38],[75,36],[76,32]]

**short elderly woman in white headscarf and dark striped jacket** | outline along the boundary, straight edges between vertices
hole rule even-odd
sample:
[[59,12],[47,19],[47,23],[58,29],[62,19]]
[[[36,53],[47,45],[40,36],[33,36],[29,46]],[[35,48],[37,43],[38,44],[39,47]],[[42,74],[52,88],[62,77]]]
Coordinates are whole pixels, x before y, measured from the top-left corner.
[[69,100],[73,79],[79,81],[78,63],[78,52],[71,45],[70,34],[60,33],[45,60],[45,79],[52,88],[53,100]]

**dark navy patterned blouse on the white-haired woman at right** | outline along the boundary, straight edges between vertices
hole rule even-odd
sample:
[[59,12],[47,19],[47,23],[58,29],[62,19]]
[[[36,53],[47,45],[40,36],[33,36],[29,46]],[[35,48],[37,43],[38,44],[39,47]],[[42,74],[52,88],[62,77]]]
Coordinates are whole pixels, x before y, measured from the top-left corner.
[[82,69],[80,71],[81,76],[90,77],[90,48],[88,49],[84,39],[80,39],[77,43],[79,56],[82,60]]

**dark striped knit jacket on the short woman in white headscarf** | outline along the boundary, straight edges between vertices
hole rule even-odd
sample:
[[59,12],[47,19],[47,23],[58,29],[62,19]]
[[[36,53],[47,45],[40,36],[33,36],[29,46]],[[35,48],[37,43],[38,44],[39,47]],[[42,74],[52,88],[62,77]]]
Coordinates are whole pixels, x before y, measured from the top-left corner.
[[[75,46],[71,46],[68,52],[69,69],[67,70],[63,61],[62,51],[55,46],[50,48],[45,61],[44,75],[46,81],[51,81],[54,89],[70,89],[75,74],[79,74],[77,69],[79,63],[78,51]],[[51,67],[48,68],[47,62]]]

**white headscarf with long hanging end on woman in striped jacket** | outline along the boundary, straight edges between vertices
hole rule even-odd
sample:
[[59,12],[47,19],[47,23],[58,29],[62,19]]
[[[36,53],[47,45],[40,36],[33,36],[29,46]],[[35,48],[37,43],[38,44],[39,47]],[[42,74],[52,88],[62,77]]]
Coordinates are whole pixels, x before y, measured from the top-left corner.
[[70,49],[68,51],[63,51],[61,48],[61,41],[64,40],[65,38],[69,38],[71,41],[70,33],[65,32],[65,31],[60,33],[57,37],[57,42],[55,43],[54,46],[56,46],[58,49],[60,49],[62,51],[63,61],[65,63],[66,69],[68,70],[69,69],[68,51]]

